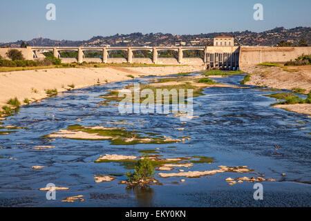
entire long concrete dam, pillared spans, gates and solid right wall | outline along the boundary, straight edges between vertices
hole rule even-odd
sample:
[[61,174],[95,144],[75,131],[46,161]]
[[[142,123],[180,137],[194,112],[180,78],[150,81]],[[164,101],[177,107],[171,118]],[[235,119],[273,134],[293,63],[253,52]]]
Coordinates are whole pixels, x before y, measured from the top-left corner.
[[[0,55],[6,58],[6,52],[12,48],[0,48]],[[197,65],[204,68],[222,70],[243,69],[263,62],[285,62],[294,60],[299,55],[310,55],[311,47],[259,47],[259,46],[154,46],[154,47],[43,47],[28,46],[15,48],[21,50],[23,57],[28,60],[44,59],[42,52],[53,52],[62,59],[62,63],[139,63],[139,64],[167,64],[167,65]],[[110,57],[109,51],[124,51],[125,57]],[[152,58],[135,57],[134,51],[147,50]],[[176,57],[159,57],[161,51],[176,51]],[[185,57],[185,50],[199,50],[202,57]],[[61,57],[63,51],[75,51],[77,57]],[[100,57],[86,57],[84,52],[97,51]]]

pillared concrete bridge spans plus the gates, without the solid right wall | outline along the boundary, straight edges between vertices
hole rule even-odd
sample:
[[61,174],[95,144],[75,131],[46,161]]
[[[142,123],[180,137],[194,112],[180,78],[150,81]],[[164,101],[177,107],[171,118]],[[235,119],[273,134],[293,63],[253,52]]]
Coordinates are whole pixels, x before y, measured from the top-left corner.
[[[189,64],[202,65],[205,68],[220,68],[232,70],[238,68],[240,47],[214,47],[214,46],[155,46],[155,47],[28,47],[32,51],[32,59],[39,59],[42,56],[41,52],[52,51],[53,55],[62,59],[63,63],[78,62],[104,62],[104,63],[142,63],[142,64]],[[126,53],[125,57],[109,57],[109,51],[121,50]],[[150,57],[134,57],[134,51],[147,50],[151,52]],[[161,51],[173,50],[176,51],[176,57],[159,57]],[[185,57],[185,50],[199,50],[202,57]],[[77,57],[60,56],[62,51],[76,51]],[[97,51],[100,57],[85,57],[85,51]]]

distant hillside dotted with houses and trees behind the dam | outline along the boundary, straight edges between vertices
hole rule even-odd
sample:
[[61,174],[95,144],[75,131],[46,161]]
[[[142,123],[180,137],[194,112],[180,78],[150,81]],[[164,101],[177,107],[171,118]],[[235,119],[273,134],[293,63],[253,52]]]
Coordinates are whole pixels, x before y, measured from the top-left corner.
[[[129,35],[112,35],[109,37],[95,36],[86,41],[68,41],[44,39],[41,37],[25,41],[30,46],[204,46],[211,45],[213,38],[218,35],[229,35],[234,37],[236,45],[241,46],[276,46],[279,41],[290,41],[297,44],[299,40],[305,39],[311,45],[311,27],[296,27],[285,29],[274,28],[265,32],[214,32],[199,35],[173,35],[163,33],[149,33],[143,35],[140,32]],[[0,47],[19,47],[22,40],[0,43]]]

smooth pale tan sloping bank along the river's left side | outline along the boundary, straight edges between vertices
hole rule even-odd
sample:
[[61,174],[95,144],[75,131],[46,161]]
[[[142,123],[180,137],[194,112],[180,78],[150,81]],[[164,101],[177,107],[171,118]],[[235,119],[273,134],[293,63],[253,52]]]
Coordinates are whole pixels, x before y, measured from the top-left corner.
[[48,97],[47,89],[56,88],[58,92],[66,91],[68,85],[75,88],[93,86],[114,81],[129,80],[133,75],[169,75],[202,70],[202,66],[151,66],[137,68],[53,68],[41,70],[23,70],[0,73],[0,106],[6,105],[8,99],[17,97],[19,101],[28,98],[30,102]]

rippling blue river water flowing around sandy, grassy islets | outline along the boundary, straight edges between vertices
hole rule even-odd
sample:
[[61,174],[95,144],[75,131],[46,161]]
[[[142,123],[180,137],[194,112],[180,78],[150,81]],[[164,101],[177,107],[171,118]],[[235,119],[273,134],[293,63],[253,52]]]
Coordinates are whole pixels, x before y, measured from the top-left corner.
[[[238,85],[243,75],[215,81]],[[133,82],[145,84],[145,77],[131,81],[92,86],[61,93],[56,97],[23,106],[2,126],[21,129],[0,135],[0,206],[311,206],[310,196],[310,121],[307,115],[270,106],[279,93],[247,88],[205,88],[194,98],[194,115],[180,124],[172,115],[120,115],[115,106],[102,106],[99,95]],[[130,131],[191,137],[178,144],[111,145],[105,140],[47,140],[42,136],[69,125],[97,126],[105,122],[127,120]],[[133,125],[131,124],[133,123]],[[0,125],[1,126],[1,125]],[[176,131],[173,127],[185,128]],[[8,131],[8,129],[1,129]],[[274,145],[281,147],[276,151]],[[35,146],[55,146],[31,150]],[[172,147],[173,146],[173,147]],[[213,157],[211,164],[194,164],[185,171],[207,171],[218,166],[249,166],[252,173],[216,173],[196,178],[156,179],[162,184],[149,188],[127,189],[120,181],[128,171],[119,163],[95,163],[100,155],[141,155],[138,151],[156,150],[162,157]],[[11,158],[11,159],[10,159]],[[12,159],[13,158],[13,159]],[[14,160],[17,159],[17,160]],[[32,166],[46,166],[41,170]],[[158,171],[156,171],[158,173]],[[164,171],[173,173],[174,171]],[[254,200],[254,183],[228,185],[227,177],[254,177],[258,173],[276,182],[263,184],[263,200]],[[282,175],[285,173],[286,175]],[[95,183],[94,175],[113,175],[111,182]],[[185,182],[180,180],[185,179]],[[65,186],[56,200],[47,200],[48,183]],[[61,202],[84,195],[84,202]]]

